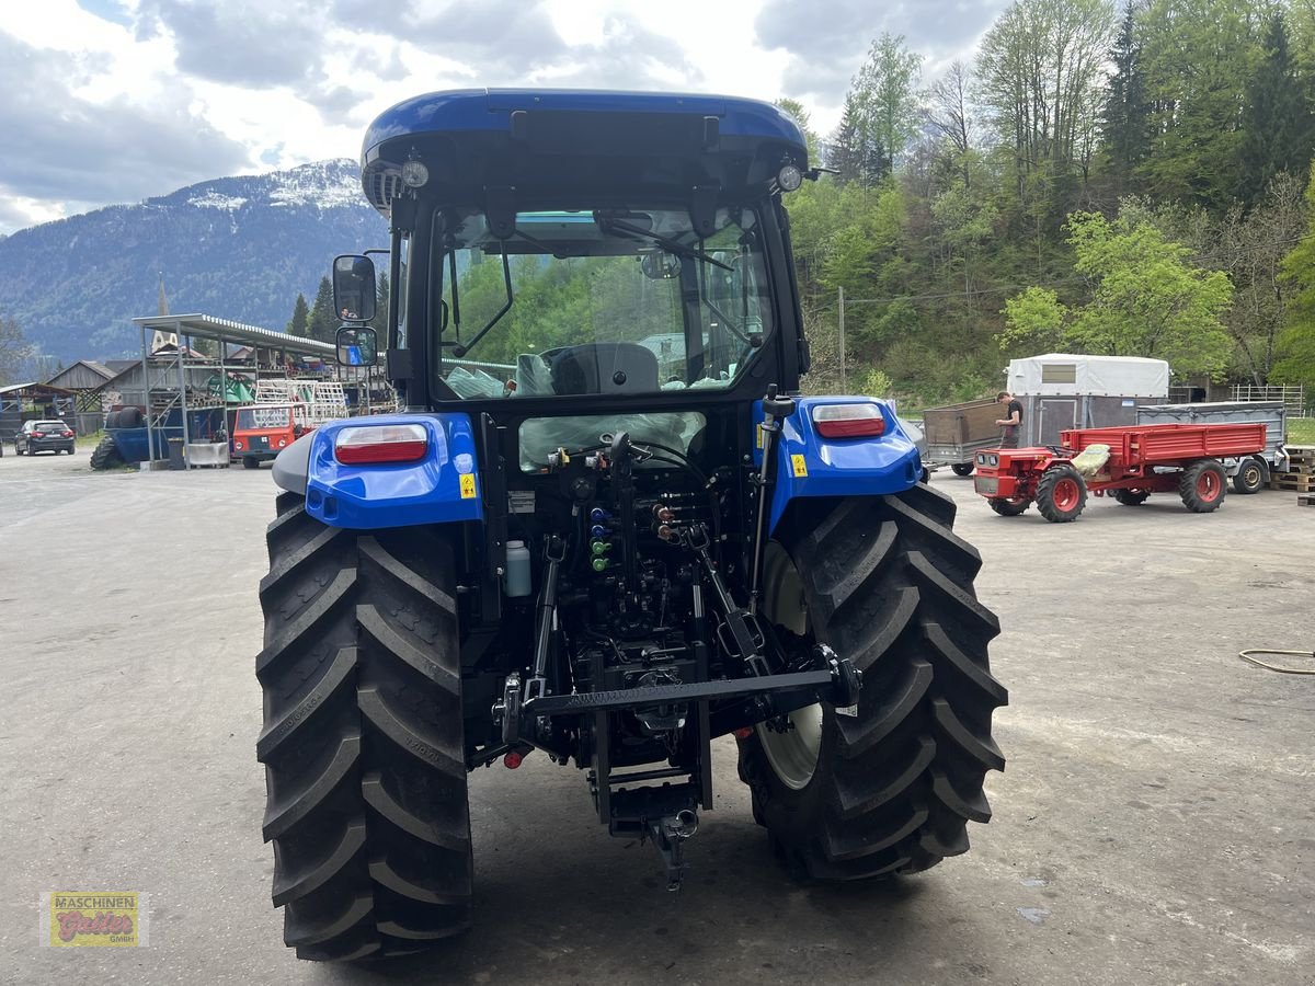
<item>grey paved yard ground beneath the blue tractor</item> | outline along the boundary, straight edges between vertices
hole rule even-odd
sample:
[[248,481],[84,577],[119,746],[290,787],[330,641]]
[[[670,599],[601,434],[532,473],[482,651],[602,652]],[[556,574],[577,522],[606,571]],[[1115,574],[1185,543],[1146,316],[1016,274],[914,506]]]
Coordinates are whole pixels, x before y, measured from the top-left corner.
[[[299,962],[270,906],[254,744],[267,469],[92,473],[0,459],[0,982],[1310,983],[1315,510],[1093,500],[1073,525],[934,485],[985,559],[1009,757],[973,849],[917,878],[803,887],[717,747],[680,894],[609,839],[584,778],[472,780],[476,929],[373,968]],[[1161,502],[1156,502],[1161,501]],[[41,894],[137,890],[139,949],[38,947]]]

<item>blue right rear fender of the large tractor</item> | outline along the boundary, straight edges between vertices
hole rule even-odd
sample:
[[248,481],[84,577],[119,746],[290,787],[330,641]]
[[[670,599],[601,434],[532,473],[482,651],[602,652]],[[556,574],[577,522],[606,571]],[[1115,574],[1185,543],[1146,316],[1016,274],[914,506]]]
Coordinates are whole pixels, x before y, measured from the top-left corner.
[[[881,409],[885,431],[874,438],[823,438],[813,423],[813,409],[836,404],[872,404]],[[763,421],[763,402],[753,404],[753,427]],[[794,414],[781,423],[776,485],[768,530],[797,497],[869,497],[902,493],[922,475],[922,456],[899,425],[894,409],[874,397],[800,397]],[[753,461],[763,450],[753,443]]]

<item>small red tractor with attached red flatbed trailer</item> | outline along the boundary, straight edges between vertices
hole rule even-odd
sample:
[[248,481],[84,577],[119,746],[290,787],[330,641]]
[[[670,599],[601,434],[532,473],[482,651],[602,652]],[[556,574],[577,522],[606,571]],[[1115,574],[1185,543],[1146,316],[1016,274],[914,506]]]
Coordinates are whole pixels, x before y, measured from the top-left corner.
[[974,489],[992,510],[1016,517],[1032,502],[1052,523],[1076,521],[1088,490],[1124,506],[1177,493],[1193,513],[1224,502],[1220,459],[1265,448],[1265,425],[1134,425],[1060,433],[1059,448],[993,448],[977,454]]

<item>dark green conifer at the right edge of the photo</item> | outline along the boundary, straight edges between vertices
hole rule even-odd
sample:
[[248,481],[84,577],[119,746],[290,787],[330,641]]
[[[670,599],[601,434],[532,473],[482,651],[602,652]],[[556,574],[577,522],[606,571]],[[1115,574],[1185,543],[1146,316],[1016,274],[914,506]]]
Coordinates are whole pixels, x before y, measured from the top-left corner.
[[1269,18],[1265,57],[1247,84],[1239,197],[1258,201],[1279,172],[1299,174],[1311,158],[1310,93],[1287,51],[1281,11]]

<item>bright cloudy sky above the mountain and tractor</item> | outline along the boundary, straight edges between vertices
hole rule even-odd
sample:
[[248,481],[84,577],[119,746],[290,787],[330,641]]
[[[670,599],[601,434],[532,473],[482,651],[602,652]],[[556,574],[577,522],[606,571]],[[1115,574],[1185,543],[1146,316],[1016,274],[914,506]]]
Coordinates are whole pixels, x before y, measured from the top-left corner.
[[479,85],[792,96],[835,125],[882,32],[965,57],[1005,0],[4,0],[0,234],[355,158],[376,113]]

